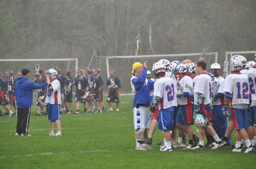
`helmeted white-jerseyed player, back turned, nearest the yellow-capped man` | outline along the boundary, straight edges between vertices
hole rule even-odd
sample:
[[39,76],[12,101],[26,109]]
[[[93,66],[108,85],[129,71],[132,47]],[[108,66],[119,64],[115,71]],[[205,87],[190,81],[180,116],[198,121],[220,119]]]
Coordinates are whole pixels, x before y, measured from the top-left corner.
[[165,67],[161,64],[154,66],[158,80],[154,83],[154,100],[150,104],[150,110],[156,111],[158,106],[158,129],[164,131],[164,146],[160,151],[172,151],[171,122],[173,106],[177,106],[177,88],[172,78],[165,77]]

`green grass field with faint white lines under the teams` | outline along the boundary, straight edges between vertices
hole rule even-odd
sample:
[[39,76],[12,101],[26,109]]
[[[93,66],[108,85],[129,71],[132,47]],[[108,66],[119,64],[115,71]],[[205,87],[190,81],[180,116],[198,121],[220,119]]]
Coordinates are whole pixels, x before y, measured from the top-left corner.
[[[105,100],[106,96],[104,96]],[[233,153],[232,149],[159,151],[162,141],[156,129],[155,150],[135,151],[133,96],[120,96],[119,112],[62,114],[63,136],[50,137],[47,116],[35,117],[32,107],[31,137],[14,136],[17,117],[0,117],[0,168],[255,168],[256,153]],[[35,102],[35,100],[34,100]],[[107,102],[104,102],[108,110]],[[35,104],[34,104],[35,105]],[[75,103],[73,111],[75,111]],[[1,107],[3,111],[3,108]],[[80,112],[83,107],[80,105]],[[193,125],[194,133],[196,126]],[[54,132],[57,132],[54,124]],[[178,138],[177,138],[178,139]],[[235,143],[234,132],[232,141]],[[206,143],[206,139],[205,139]],[[186,143],[188,145],[188,141]],[[244,152],[244,150],[242,151]]]

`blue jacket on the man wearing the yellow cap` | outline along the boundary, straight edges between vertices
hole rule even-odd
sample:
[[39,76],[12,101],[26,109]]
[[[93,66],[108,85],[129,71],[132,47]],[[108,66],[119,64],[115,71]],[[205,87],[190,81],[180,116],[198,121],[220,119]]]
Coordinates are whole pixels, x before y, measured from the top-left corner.
[[132,108],[136,106],[136,104],[150,104],[150,90],[154,88],[153,81],[148,81],[147,76],[147,68],[143,68],[140,76],[132,75],[131,85],[132,92],[134,95]]

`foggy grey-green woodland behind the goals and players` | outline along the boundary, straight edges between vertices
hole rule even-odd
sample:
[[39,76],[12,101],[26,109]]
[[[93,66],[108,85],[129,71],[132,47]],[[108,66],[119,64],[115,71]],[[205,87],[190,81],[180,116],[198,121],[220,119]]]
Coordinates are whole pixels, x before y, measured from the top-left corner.
[[[0,0],[0,58],[78,58],[84,69],[95,50],[97,56],[204,51],[218,52],[223,65],[226,51],[256,50],[255,7],[252,0]],[[254,54],[243,56],[254,60]],[[203,57],[207,65],[214,63],[213,56]],[[151,71],[159,58],[109,59],[123,85],[120,93],[131,93],[132,64],[145,60]],[[23,68],[33,72],[35,64],[58,66],[64,75],[68,68],[68,61],[1,62],[0,71],[5,77],[12,70],[15,77]],[[106,60],[97,58],[96,65],[94,57],[89,68],[99,64],[106,86]],[[74,79],[75,61],[69,69]]]

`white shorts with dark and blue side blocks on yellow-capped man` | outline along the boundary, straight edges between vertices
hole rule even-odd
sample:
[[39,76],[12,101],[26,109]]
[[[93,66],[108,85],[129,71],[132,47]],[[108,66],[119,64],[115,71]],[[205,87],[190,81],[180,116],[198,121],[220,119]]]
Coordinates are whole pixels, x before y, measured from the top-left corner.
[[[150,115],[150,111],[146,106],[136,106],[133,108],[133,121],[134,121],[134,129],[139,129],[143,127]],[[150,119],[146,124],[145,128],[149,128],[150,126]]]

